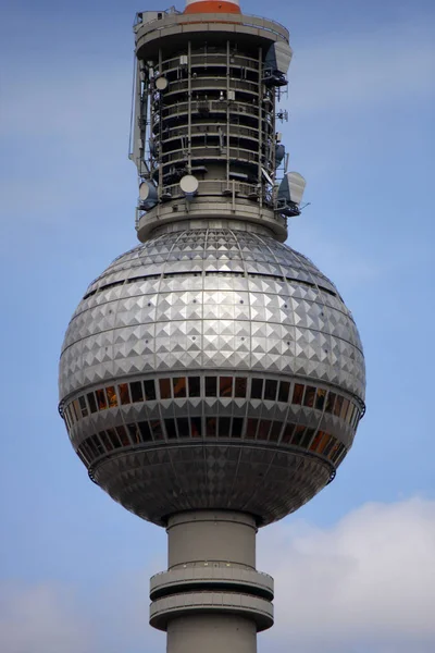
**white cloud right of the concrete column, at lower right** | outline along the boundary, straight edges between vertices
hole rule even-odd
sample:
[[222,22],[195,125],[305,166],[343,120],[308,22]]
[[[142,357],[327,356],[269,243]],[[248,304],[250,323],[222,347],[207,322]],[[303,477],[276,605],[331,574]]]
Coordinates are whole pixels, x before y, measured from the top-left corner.
[[268,651],[434,650],[435,502],[368,504],[330,529],[287,521],[259,558],[276,586]]

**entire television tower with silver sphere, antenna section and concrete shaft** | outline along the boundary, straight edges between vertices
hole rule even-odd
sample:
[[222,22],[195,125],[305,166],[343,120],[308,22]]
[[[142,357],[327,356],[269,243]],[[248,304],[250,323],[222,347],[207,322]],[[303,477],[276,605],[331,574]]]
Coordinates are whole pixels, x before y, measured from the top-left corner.
[[277,107],[289,35],[238,0],[134,25],[140,245],[86,291],[60,411],[91,480],[166,528],[150,624],[169,653],[254,653],[273,624],[256,533],[330,483],[364,412],[351,313],[283,245],[300,213]]

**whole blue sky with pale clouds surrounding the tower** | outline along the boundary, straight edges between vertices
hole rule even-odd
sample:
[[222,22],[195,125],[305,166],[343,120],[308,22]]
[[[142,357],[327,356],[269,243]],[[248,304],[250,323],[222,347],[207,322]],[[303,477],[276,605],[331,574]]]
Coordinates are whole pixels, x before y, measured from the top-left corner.
[[[290,29],[283,133],[310,206],[288,243],[338,286],[368,366],[368,414],[337,479],[259,535],[259,568],[275,576],[277,595],[260,653],[428,653],[435,4],[243,8]],[[164,650],[147,624],[164,531],[88,481],[57,415],[67,321],[88,283],[135,245],[132,24],[144,9],[164,5],[15,0],[1,9],[5,653]]]

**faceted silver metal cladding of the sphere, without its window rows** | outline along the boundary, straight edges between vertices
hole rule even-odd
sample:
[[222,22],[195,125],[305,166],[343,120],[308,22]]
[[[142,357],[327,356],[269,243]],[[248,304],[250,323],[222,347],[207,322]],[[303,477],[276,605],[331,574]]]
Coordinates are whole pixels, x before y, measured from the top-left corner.
[[[69,401],[144,374],[222,369],[318,381],[364,399],[360,337],[331,281],[262,233],[206,227],[163,233],[120,256],[90,284],[65,335],[60,396]],[[310,408],[284,410],[256,399],[249,406],[261,419],[284,424],[294,414],[300,423],[313,422]],[[141,419],[245,411],[244,402],[224,398],[162,399],[144,407]],[[123,407],[133,422],[136,412]],[[119,426],[120,415],[108,411],[99,428]],[[333,417],[328,421],[339,438],[343,427]],[[84,420],[75,444],[95,429],[96,419]],[[199,507],[245,509],[272,521],[306,503],[331,475],[321,458],[273,445],[172,441],[112,456],[99,461],[97,482],[157,522]]]

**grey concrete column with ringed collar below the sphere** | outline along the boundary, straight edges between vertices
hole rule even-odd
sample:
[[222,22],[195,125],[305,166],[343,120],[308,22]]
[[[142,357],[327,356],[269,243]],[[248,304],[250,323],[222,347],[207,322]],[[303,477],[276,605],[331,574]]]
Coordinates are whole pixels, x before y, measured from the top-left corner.
[[256,653],[273,625],[273,579],[256,569],[256,521],[229,510],[169,519],[169,569],[151,578],[150,624],[167,653]]

